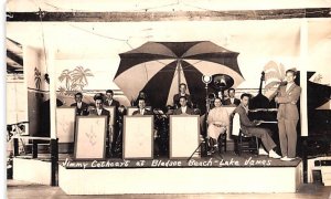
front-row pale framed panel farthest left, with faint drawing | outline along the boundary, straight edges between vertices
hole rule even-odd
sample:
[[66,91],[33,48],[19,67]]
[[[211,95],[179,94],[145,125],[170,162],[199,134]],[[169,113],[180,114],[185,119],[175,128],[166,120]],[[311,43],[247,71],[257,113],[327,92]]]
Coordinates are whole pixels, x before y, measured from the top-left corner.
[[75,159],[104,159],[107,116],[77,116]]

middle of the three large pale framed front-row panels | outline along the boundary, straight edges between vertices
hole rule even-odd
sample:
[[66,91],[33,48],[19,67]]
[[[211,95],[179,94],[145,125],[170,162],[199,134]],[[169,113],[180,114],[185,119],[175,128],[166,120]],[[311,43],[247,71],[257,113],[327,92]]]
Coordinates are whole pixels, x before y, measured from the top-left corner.
[[125,116],[124,159],[153,158],[153,116]]

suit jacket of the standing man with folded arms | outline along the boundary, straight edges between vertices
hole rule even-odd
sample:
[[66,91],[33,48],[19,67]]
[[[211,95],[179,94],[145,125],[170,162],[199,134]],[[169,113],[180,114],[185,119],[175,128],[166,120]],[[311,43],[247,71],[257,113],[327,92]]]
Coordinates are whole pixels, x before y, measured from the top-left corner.
[[299,119],[299,112],[297,102],[300,97],[301,87],[293,83],[290,88],[286,92],[286,85],[281,86],[278,97],[278,113],[277,119]]

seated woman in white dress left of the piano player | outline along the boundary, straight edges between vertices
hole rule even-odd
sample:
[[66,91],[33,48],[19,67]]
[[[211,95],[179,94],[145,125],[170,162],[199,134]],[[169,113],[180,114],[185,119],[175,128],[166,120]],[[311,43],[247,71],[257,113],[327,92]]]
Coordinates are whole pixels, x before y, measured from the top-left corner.
[[222,107],[221,98],[214,100],[215,107],[210,111],[207,116],[207,137],[211,146],[211,153],[217,147],[217,139],[221,134],[224,134],[228,127],[228,114],[225,108]]

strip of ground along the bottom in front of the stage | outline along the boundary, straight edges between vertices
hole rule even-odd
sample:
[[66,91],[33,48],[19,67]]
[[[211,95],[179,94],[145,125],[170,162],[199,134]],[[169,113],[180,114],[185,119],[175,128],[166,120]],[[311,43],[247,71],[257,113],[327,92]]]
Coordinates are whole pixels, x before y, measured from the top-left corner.
[[67,196],[60,187],[33,185],[30,182],[8,180],[7,197],[1,198],[19,199],[19,198],[42,198],[42,199],[66,199],[66,198],[135,198],[135,199],[154,199],[154,198],[281,198],[281,199],[331,199],[331,187],[324,187],[321,184],[305,184],[296,193],[213,193],[213,195],[111,195],[111,196]]

